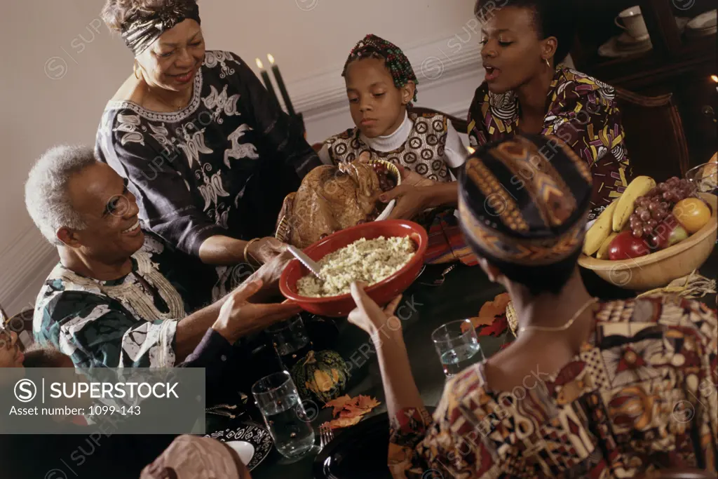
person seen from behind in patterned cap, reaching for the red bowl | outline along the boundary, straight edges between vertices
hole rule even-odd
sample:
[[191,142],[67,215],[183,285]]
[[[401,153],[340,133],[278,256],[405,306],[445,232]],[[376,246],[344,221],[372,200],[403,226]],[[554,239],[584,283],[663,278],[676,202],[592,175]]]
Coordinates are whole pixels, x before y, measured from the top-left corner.
[[591,193],[589,167],[553,136],[515,136],[467,160],[462,230],[510,294],[518,338],[450,378],[433,417],[401,327],[383,327],[391,305],[381,310],[353,284],[349,320],[375,343],[394,477],[715,475],[716,315],[681,297],[590,297],[577,258]]

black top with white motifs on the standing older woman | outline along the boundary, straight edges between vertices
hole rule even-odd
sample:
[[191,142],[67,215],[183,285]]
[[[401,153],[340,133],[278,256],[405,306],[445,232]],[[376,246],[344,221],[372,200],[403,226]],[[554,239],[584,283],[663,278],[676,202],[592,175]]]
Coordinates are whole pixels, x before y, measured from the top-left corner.
[[320,164],[243,60],[216,50],[180,111],[108,103],[95,148],[129,179],[147,227],[195,256],[210,236],[271,236],[284,197]]

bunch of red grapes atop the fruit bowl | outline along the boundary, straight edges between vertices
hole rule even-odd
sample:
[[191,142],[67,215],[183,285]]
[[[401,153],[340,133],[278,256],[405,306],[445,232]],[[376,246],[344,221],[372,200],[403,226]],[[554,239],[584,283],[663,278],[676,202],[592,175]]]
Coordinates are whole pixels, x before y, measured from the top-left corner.
[[671,215],[673,207],[681,200],[694,196],[694,186],[689,180],[672,177],[658,183],[655,188],[635,200],[635,210],[630,215],[630,229],[635,238],[651,238],[658,223]]

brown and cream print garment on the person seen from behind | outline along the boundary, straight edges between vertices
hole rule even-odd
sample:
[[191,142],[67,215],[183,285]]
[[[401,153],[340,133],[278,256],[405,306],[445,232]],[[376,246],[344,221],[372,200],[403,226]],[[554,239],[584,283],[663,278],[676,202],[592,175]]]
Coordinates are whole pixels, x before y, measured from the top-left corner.
[[395,478],[633,478],[718,468],[718,321],[676,296],[600,305],[561,371],[492,391],[482,364],[450,379],[434,413],[407,409]]

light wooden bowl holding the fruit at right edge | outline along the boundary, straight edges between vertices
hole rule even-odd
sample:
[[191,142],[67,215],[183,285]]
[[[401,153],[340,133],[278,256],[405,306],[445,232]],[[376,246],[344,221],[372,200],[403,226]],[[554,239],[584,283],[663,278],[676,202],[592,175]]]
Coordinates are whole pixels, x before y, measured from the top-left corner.
[[640,258],[620,261],[595,259],[582,254],[579,265],[595,271],[617,287],[635,291],[665,287],[673,279],[691,274],[704,264],[713,251],[718,227],[718,197],[709,193],[699,195],[710,206],[711,219],[684,241]]

